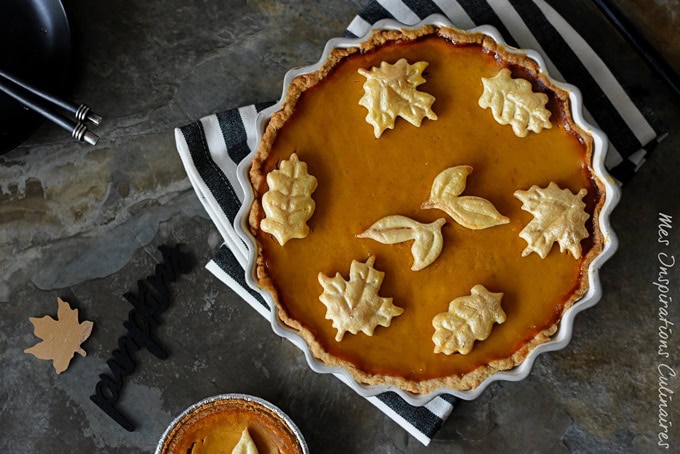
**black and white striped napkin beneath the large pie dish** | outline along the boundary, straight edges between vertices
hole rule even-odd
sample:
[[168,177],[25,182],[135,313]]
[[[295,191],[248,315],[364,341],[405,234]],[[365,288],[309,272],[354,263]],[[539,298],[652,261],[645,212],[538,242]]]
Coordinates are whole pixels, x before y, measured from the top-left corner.
[[[349,24],[346,35],[362,36],[380,19],[414,24],[431,14],[442,14],[463,29],[495,26],[508,44],[542,54],[553,78],[582,91],[586,117],[609,137],[606,165],[620,182],[642,165],[645,148],[663,138],[663,127],[636,105],[588,43],[543,0],[372,0]],[[269,307],[245,282],[247,251],[233,222],[243,200],[236,167],[255,148],[255,118],[268,105],[220,112],[175,130],[189,180],[224,238],[207,268],[267,318]],[[413,407],[394,393],[368,400],[425,445],[456,401],[443,395]]]

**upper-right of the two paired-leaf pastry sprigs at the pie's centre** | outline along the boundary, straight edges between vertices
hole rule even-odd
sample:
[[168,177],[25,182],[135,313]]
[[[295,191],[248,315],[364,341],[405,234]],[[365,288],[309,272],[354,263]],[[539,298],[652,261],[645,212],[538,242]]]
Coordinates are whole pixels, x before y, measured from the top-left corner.
[[421,207],[440,209],[463,227],[472,230],[510,222],[488,200],[460,195],[465,190],[467,176],[471,172],[472,167],[465,165],[450,167],[441,172],[432,183],[430,199]]

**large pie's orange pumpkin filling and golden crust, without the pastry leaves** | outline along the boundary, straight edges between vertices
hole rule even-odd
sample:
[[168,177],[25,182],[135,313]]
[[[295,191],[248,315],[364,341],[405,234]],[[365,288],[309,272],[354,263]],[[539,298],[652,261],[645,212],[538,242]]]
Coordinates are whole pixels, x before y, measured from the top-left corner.
[[[432,110],[438,119],[425,119],[419,128],[397,119],[393,130],[375,139],[364,120],[366,109],[358,104],[365,80],[358,69],[400,58],[428,62],[426,83],[419,89],[435,96]],[[552,128],[519,138],[479,107],[482,77],[503,68],[548,96]],[[380,31],[360,48],[331,51],[319,70],[291,82],[250,170],[256,277],[273,295],[280,319],[305,338],[320,361],[345,368],[360,383],[396,385],[413,393],[444,386],[474,389],[494,372],[520,364],[550,340],[562,314],[585,294],[588,266],[602,250],[598,218],[604,185],[591,169],[592,138],[569,112],[568,93],[554,86],[536,62],[481,33],[435,26]],[[261,199],[267,173],[293,152],[318,179],[317,208],[309,236],[281,247],[259,228]],[[423,210],[421,204],[435,177],[457,165],[474,168],[466,192],[493,201],[508,224],[473,231],[447,222],[441,255],[417,272],[410,270],[410,243],[357,238],[389,215],[421,223],[441,218],[443,212]],[[561,254],[556,245],[545,259],[521,255],[526,242],[519,233],[532,217],[513,193],[550,182],[573,193],[587,190],[589,237],[581,243],[579,259]],[[359,333],[336,342],[318,300],[323,289],[317,275],[346,273],[346,263],[370,256],[385,272],[381,295],[393,298],[404,313],[372,337]],[[507,320],[467,355],[433,353],[432,318],[476,284],[504,294]]]

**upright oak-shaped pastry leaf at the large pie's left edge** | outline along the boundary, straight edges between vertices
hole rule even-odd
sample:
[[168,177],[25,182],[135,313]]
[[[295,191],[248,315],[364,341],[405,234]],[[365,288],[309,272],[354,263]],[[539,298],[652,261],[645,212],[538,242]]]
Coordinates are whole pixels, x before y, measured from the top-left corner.
[[283,246],[291,238],[305,238],[309,234],[307,221],[314,213],[312,193],[316,178],[307,173],[307,164],[296,153],[279,164],[278,170],[267,174],[269,190],[262,196],[265,218],[260,228]]

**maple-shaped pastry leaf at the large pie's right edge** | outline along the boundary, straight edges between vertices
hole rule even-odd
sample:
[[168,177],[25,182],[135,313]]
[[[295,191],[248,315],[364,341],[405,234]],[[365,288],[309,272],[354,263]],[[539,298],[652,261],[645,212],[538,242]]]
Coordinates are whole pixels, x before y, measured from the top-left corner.
[[566,250],[575,259],[580,258],[581,240],[588,237],[585,223],[590,215],[583,202],[587,192],[581,189],[573,194],[552,181],[545,188],[534,185],[528,191],[515,191],[514,196],[522,202],[522,209],[534,216],[519,233],[528,243],[522,257],[535,252],[544,259],[557,242],[560,252]]

